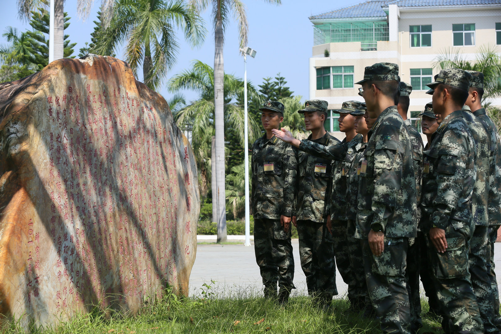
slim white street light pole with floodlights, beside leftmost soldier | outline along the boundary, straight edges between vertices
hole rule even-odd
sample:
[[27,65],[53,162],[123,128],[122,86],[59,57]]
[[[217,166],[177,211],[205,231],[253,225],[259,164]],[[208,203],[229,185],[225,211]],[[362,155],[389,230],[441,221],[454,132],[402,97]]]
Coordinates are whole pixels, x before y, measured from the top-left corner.
[[244,154],[243,164],[245,169],[245,243],[244,246],[250,246],[250,208],[249,208],[249,145],[248,145],[248,124],[247,124],[247,55],[254,58],[256,51],[248,47],[240,49],[243,53],[243,141]]

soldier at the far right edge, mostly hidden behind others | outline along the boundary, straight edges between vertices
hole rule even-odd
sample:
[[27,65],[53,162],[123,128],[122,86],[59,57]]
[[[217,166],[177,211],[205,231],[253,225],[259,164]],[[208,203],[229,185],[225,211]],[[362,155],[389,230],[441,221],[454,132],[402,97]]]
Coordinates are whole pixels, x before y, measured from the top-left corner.
[[[485,113],[485,109],[481,106],[481,99],[483,96],[483,74],[477,71],[466,71],[472,76],[471,85],[469,88],[468,99],[466,100],[466,105],[473,111],[473,115],[478,121],[483,125],[488,136],[488,145],[490,148],[489,166],[488,166],[488,198],[487,198],[487,215],[488,215],[488,237],[486,246],[486,270],[487,277],[490,282],[490,302],[492,306],[492,319],[491,323],[497,325],[499,328],[501,321],[499,316],[499,294],[497,290],[497,281],[494,272],[494,259],[493,259],[493,246],[497,238],[497,229],[499,224],[501,224],[501,144],[499,142],[499,134],[497,132],[496,126]],[[482,275],[483,276],[483,275]],[[472,278],[473,283],[473,278]],[[473,285],[473,289],[475,286]],[[475,291],[476,294],[476,291]],[[480,308],[480,314],[482,315],[482,299],[478,300],[478,307]],[[487,299],[483,300],[485,304]],[[489,310],[490,312],[490,310]],[[482,317],[483,320],[483,317]],[[485,326],[485,331],[487,332],[487,327]]]

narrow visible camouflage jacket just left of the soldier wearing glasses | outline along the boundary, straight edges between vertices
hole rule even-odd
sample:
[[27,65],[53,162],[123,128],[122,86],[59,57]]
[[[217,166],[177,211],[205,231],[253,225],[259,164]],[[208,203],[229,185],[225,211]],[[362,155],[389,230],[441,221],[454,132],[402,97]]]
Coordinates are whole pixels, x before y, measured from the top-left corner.
[[[360,136],[360,139],[357,139],[358,136]],[[354,140],[357,140],[357,144],[353,147],[353,158],[351,164],[348,166],[348,171],[345,171],[347,185],[346,195],[343,196],[346,198],[346,220],[357,219],[358,183],[360,178],[360,169],[358,167],[364,159],[364,152],[367,147],[367,143],[362,143],[363,136],[361,134],[358,134],[352,142]],[[349,155],[352,155],[350,149],[348,149],[346,156],[348,157]]]

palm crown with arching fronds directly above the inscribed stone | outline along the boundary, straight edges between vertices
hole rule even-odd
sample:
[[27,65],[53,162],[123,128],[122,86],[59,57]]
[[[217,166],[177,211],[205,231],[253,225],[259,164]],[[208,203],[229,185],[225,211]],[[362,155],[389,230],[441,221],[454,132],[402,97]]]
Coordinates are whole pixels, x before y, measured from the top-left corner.
[[151,89],[158,88],[175,63],[177,28],[192,46],[205,38],[202,19],[181,0],[118,0],[114,8],[110,26],[99,35],[94,50],[109,54],[126,41],[126,61],[134,73],[142,65],[143,82]]

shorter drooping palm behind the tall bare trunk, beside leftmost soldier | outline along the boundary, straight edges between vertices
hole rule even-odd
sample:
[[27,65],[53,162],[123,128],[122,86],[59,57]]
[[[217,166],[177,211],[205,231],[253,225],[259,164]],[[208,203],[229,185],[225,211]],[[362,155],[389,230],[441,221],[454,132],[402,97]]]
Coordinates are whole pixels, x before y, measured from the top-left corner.
[[[181,89],[190,89],[198,92],[200,98],[190,102],[189,105],[175,113],[174,118],[178,126],[183,130],[191,130],[191,146],[197,159],[197,167],[200,175],[200,192],[206,195],[209,174],[214,176],[212,151],[212,136],[215,133],[214,125],[214,70],[200,61],[194,61],[190,70],[172,77],[167,87],[171,92],[177,92]],[[247,91],[250,96],[258,96],[256,89],[252,84],[247,84]],[[244,144],[243,136],[243,108],[233,103],[243,92],[243,81],[233,75],[224,75],[224,129],[235,134],[236,141],[241,146]],[[249,139],[255,140],[260,135],[259,125],[250,116],[247,118],[249,125]],[[209,171],[211,171],[209,173]],[[212,181],[211,183],[215,183]],[[212,193],[212,205],[215,206],[217,193]],[[215,214],[212,218],[216,218]]]

